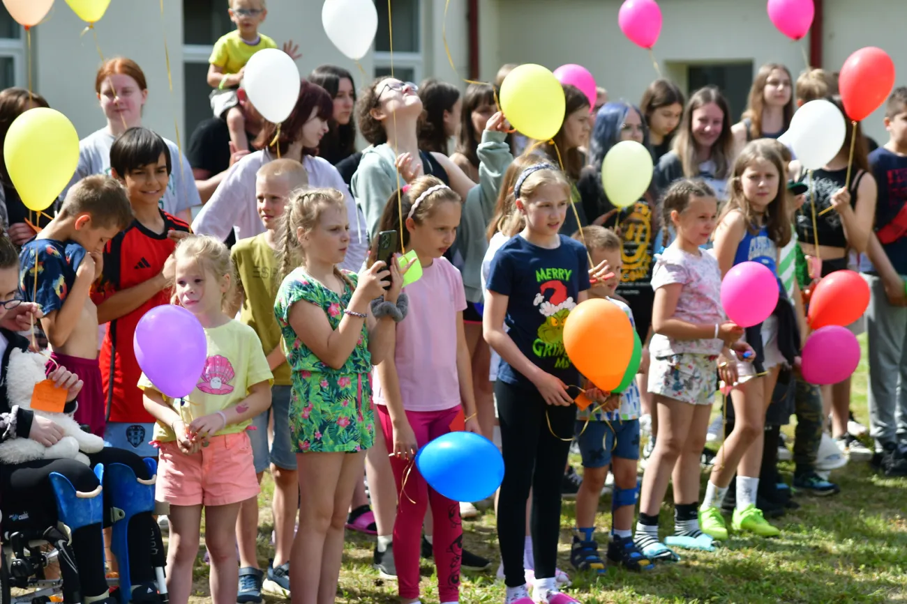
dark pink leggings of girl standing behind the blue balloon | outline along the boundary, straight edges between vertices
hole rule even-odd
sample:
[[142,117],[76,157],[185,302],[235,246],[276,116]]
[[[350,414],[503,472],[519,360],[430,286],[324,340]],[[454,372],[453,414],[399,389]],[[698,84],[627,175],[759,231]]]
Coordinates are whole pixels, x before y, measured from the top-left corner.
[[[381,417],[388,453],[394,452],[394,427],[384,405],[375,405]],[[453,418],[460,407],[444,411],[407,411],[406,418],[413,427],[415,442],[424,446],[430,440],[451,431]],[[410,469],[412,465],[412,469]],[[460,503],[451,501],[425,483],[415,465],[405,459],[391,457],[391,468],[399,494],[394,522],[394,561],[401,598],[419,597],[419,553],[422,549],[422,524],[425,509],[432,504],[434,518],[434,565],[438,570],[438,596],[442,602],[460,600],[460,561],[463,555],[463,527],[460,523]],[[408,472],[408,475],[407,475]],[[405,488],[403,482],[406,481]],[[403,493],[400,494],[401,489]]]

